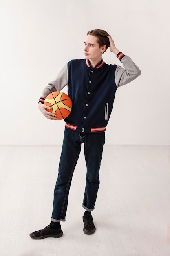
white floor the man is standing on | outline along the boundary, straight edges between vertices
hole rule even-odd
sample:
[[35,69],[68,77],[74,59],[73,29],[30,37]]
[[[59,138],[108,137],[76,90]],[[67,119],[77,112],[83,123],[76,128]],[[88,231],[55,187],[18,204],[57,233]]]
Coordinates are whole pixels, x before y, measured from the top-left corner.
[[0,147],[0,256],[170,256],[170,148],[106,146],[93,220],[83,233],[86,166],[80,155],[64,236],[33,240],[49,224],[60,146]]

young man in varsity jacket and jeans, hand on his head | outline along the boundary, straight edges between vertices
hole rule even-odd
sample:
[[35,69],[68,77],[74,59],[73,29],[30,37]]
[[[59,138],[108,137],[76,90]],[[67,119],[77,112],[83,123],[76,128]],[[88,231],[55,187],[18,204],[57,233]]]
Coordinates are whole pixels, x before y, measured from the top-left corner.
[[[131,58],[116,47],[112,37],[104,30],[95,29],[87,33],[82,60],[69,61],[56,79],[44,88],[38,103],[42,114],[51,120],[56,116],[46,109],[45,97],[68,86],[68,95],[73,102],[71,114],[65,119],[65,131],[59,173],[54,190],[51,223],[42,230],[30,234],[33,239],[60,237],[63,232],[60,221],[65,221],[68,193],[81,144],[87,166],[86,188],[82,207],[84,233],[93,234],[95,225],[91,216],[99,189],[99,169],[105,143],[105,130],[113,108],[117,87],[125,85],[141,74]],[[110,47],[123,64],[108,65],[102,54]]]

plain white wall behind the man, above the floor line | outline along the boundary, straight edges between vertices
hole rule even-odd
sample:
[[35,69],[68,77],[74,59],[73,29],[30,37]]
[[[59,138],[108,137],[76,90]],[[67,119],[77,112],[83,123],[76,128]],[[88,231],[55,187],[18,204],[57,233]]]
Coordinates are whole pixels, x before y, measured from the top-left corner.
[[[117,90],[106,143],[170,144],[168,0],[0,0],[0,26],[0,145],[62,144],[64,121],[37,102],[65,63],[84,58],[96,28],[142,72]],[[119,64],[109,50],[103,58]]]

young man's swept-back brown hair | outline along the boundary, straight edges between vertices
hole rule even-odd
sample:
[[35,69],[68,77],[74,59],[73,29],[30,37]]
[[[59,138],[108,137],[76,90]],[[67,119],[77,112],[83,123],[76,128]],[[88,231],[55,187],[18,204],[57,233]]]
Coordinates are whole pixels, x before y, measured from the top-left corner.
[[106,45],[106,50],[108,49],[110,45],[109,38],[107,37],[109,35],[108,32],[102,29],[95,29],[88,31],[87,35],[96,36],[98,38],[97,43],[99,44],[99,47]]

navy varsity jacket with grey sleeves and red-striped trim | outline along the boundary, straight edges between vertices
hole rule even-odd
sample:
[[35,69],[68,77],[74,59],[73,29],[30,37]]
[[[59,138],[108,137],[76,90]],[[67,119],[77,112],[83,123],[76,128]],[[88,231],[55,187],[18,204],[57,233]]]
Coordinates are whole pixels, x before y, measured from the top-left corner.
[[69,61],[44,88],[39,102],[43,103],[49,93],[61,91],[67,85],[73,107],[64,119],[66,128],[80,133],[104,132],[117,88],[141,74],[130,57],[119,52],[117,58],[123,67],[108,65],[103,59],[95,68],[86,59]]

